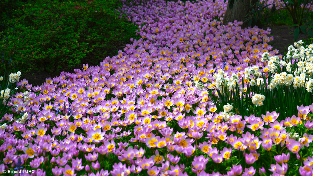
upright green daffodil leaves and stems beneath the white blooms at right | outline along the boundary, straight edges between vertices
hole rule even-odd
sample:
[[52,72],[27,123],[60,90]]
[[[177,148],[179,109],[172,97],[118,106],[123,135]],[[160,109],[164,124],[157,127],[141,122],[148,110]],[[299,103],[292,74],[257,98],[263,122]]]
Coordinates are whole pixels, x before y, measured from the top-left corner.
[[[273,76],[269,73],[269,80]],[[276,111],[280,112],[283,119],[297,114],[297,109],[294,107],[311,105],[313,102],[312,93],[307,92],[305,88],[293,89],[292,86],[277,86],[277,88],[270,90],[265,83],[266,78],[264,78],[264,83],[261,83],[259,86],[251,86],[249,83],[242,81],[242,85],[247,87],[246,90],[242,91],[243,93],[239,92],[241,89],[238,84],[230,90],[222,86],[222,91],[216,89],[218,98],[213,95],[211,95],[211,98],[218,111],[223,111],[223,106],[229,103],[238,115],[249,116],[254,114],[257,117],[261,117],[261,114],[264,114],[264,112]],[[251,96],[249,96],[251,93],[264,95],[266,97],[263,102],[264,105],[255,106],[251,101]]]

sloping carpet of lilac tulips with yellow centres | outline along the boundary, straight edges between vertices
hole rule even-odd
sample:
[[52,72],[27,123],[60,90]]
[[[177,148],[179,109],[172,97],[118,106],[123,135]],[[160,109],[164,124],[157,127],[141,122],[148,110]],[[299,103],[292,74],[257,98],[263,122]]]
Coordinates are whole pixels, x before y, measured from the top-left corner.
[[[1,121],[0,172],[312,175],[312,107],[292,117],[260,108],[271,100],[255,87],[270,83],[282,57],[268,44],[270,29],[222,25],[225,10],[223,1],[125,2],[121,11],[140,25],[140,40],[97,67],[37,87],[23,80],[13,97],[3,93],[12,110]],[[277,80],[269,88],[288,84]],[[235,96],[241,105],[230,102]]]

